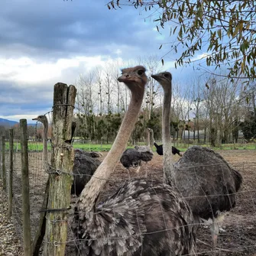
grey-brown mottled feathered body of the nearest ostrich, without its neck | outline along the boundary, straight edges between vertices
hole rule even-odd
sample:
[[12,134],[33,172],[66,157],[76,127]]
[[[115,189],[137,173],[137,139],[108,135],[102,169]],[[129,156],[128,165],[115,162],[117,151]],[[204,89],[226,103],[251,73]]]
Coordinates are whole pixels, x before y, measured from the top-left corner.
[[129,180],[95,210],[80,230],[82,255],[183,255],[196,246],[190,209],[158,181]]

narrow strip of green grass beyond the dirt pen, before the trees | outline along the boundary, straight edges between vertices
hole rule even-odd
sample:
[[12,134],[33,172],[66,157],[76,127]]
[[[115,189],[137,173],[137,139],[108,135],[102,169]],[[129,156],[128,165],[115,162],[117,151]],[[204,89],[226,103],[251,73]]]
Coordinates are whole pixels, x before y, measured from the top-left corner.
[[[143,145],[143,143],[139,143],[140,145]],[[174,144],[175,147],[177,147],[180,151],[184,152],[186,149],[193,144]],[[202,145],[203,147],[209,147],[209,144],[207,145]],[[14,149],[15,151],[21,151],[21,144],[20,143],[15,143],[14,144]],[[74,148],[80,148],[83,149],[84,151],[109,151],[110,148],[112,147],[112,144],[78,144],[74,143],[73,144]],[[128,148],[132,148],[132,145],[128,145]],[[256,144],[222,144],[222,146],[219,147],[212,147],[213,150],[218,151],[218,150],[256,150]],[[9,143],[5,142],[5,150],[9,150]],[[50,151],[50,145],[48,145],[48,150]],[[28,141],[28,151],[43,151],[43,144],[42,142],[30,142]],[[156,151],[156,148],[153,148],[153,151]]]

